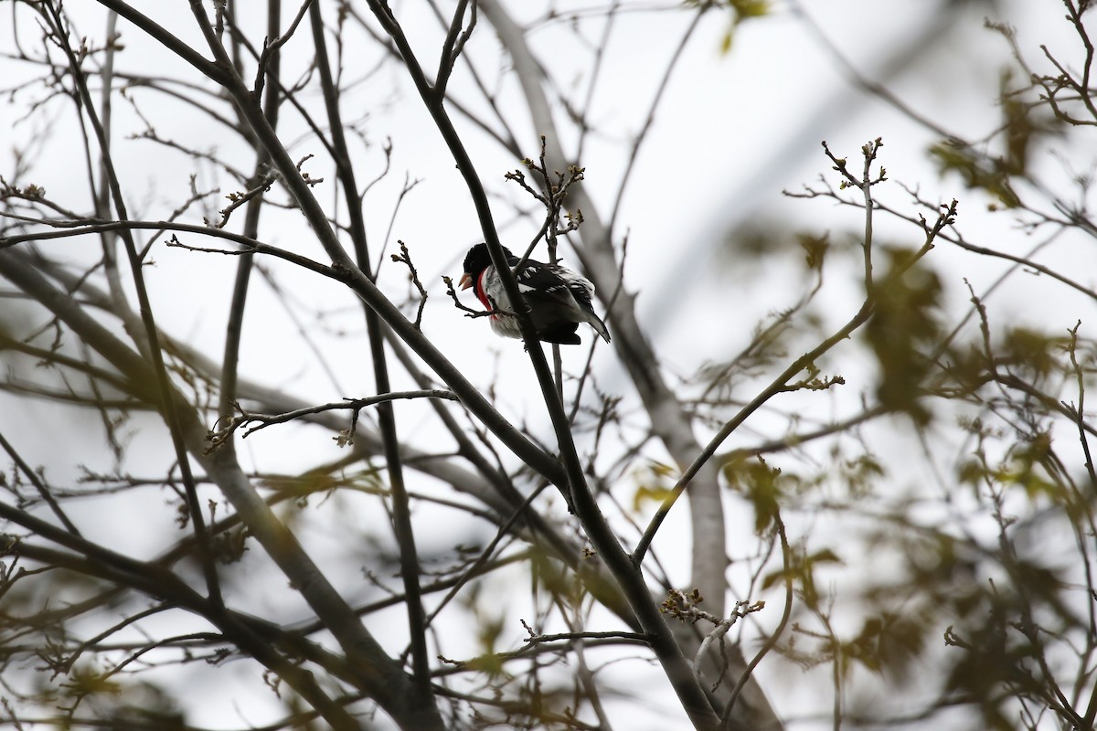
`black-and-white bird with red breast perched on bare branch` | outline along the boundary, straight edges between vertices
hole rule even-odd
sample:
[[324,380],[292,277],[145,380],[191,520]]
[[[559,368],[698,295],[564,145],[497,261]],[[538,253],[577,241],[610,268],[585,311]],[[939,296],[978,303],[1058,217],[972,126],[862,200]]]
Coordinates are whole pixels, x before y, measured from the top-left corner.
[[[514,267],[518,256],[504,248],[507,263]],[[595,285],[564,266],[527,260],[522,269],[514,273],[518,290],[530,306],[530,319],[538,331],[538,338],[546,343],[578,345],[581,341],[576,330],[580,322],[587,322],[608,343],[610,332],[606,323],[595,315],[590,295]],[[461,288],[473,288],[477,299],[488,309],[512,310],[510,299],[504,292],[502,281],[491,264],[487,244],[477,243],[465,255],[465,273],[461,277]],[[491,330],[505,338],[521,338],[518,320],[510,315],[493,315]]]

